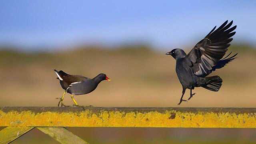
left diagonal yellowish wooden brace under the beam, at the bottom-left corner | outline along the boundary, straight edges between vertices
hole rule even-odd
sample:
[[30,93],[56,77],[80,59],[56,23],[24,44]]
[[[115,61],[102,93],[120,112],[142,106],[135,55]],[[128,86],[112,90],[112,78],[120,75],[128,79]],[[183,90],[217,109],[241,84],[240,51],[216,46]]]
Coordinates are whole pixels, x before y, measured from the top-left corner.
[[33,128],[34,127],[6,127],[0,130],[0,144],[9,144]]

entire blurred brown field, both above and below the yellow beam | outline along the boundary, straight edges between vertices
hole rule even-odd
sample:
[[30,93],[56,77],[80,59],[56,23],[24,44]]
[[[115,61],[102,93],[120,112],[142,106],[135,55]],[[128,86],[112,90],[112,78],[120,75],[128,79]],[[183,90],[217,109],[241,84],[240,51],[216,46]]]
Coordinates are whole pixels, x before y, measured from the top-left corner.
[[[187,52],[190,49],[187,49]],[[219,92],[195,88],[196,96],[181,107],[255,107],[256,49],[232,45],[238,58],[211,75],[223,79]],[[175,60],[147,45],[116,48],[80,46],[52,52],[0,51],[0,106],[57,106],[64,90],[54,69],[93,78],[105,73],[104,81],[87,95],[76,96],[80,105],[120,107],[176,107],[181,85]],[[189,91],[185,94],[189,97]],[[72,105],[67,94],[64,103]],[[253,144],[254,129],[184,128],[68,128],[90,144]],[[38,140],[41,139],[41,140]],[[39,130],[13,144],[58,144]]]

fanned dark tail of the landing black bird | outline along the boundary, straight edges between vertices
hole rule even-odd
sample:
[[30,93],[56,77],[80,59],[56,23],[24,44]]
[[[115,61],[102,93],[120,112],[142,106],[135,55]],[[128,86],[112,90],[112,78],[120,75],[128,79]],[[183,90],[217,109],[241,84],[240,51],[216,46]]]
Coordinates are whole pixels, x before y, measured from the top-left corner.
[[208,76],[205,77],[206,84],[202,85],[203,88],[218,92],[222,85],[222,79],[219,76]]

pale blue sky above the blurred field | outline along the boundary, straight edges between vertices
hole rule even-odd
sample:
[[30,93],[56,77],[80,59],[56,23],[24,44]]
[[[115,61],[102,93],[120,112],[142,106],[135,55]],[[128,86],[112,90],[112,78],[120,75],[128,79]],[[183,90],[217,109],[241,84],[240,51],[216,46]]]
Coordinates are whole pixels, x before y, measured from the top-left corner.
[[194,46],[234,20],[234,41],[256,45],[256,1],[2,0],[0,44],[25,48],[100,42],[148,42],[160,49]]

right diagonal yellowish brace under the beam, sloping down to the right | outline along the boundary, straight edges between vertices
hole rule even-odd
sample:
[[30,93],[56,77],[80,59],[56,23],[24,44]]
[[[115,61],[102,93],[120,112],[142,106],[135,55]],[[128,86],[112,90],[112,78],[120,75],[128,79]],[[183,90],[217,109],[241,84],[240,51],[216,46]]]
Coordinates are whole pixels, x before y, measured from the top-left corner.
[[48,134],[50,137],[54,138],[61,144],[89,144],[86,141],[82,140],[78,136],[74,135],[72,132],[68,131],[66,128],[62,127],[37,127],[38,130],[41,130],[45,134]]

